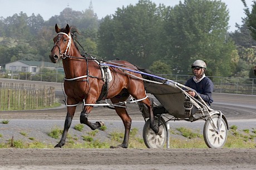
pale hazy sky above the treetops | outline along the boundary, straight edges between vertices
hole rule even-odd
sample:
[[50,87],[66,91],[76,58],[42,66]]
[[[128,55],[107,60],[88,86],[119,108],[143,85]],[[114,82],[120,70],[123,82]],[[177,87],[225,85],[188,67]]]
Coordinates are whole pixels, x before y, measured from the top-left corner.
[[[92,0],[93,11],[101,19],[108,14],[115,14],[116,9],[126,7],[129,4],[135,5],[139,0]],[[175,6],[180,0],[151,0],[157,4],[163,3],[165,6]],[[229,9],[229,32],[235,31],[235,23],[242,24],[242,18],[245,17],[244,6],[241,0],[221,0],[227,4]],[[182,0],[183,2],[183,0]],[[253,0],[245,0],[248,7],[253,4]],[[52,16],[60,15],[63,9],[69,7],[74,11],[85,11],[90,6],[90,0],[0,0],[0,17],[11,17],[20,12],[27,16],[40,14],[43,19],[48,20]]]

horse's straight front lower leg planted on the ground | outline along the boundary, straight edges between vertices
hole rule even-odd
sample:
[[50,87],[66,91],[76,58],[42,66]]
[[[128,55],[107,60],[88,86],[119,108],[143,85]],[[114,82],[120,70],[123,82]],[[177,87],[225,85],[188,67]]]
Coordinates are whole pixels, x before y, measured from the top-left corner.
[[65,120],[65,124],[64,124],[64,130],[62,133],[61,141],[55,147],[61,148],[63,145],[65,145],[66,138],[67,138],[67,132],[71,126],[71,122],[72,122],[73,116],[75,114],[75,111],[76,111],[76,106],[67,107],[67,116],[66,116],[66,120]]

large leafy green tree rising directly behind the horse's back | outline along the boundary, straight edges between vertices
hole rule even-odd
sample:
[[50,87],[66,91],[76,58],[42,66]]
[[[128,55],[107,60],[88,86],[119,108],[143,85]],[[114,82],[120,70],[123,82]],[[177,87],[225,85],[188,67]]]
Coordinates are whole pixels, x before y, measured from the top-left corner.
[[161,48],[164,9],[146,0],[135,6],[130,4],[126,8],[117,8],[112,18],[106,17],[101,23],[99,54],[107,51],[108,59],[117,57],[144,67],[150,66],[161,58],[157,50]]

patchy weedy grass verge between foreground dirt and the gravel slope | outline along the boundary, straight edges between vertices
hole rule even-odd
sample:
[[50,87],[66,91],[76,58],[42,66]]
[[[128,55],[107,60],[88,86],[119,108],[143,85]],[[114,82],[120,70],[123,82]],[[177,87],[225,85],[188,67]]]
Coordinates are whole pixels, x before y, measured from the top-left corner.
[[[80,131],[80,125],[77,128]],[[124,133],[120,131],[106,132],[106,127],[102,130],[95,130],[86,133],[81,132],[81,136],[68,133],[67,142],[64,148],[110,148],[117,146],[124,140]],[[137,128],[132,128],[130,131],[129,148],[146,148],[143,138],[138,134]],[[102,133],[106,133],[105,141],[99,140]],[[35,137],[28,137],[26,132],[20,132],[23,137],[27,137],[32,142],[23,142],[14,140],[14,137],[6,143],[0,143],[0,148],[53,148],[53,145],[48,145],[40,141],[36,141]],[[180,127],[170,130],[170,148],[208,148],[204,142],[203,135],[199,130],[191,130],[189,128]],[[58,127],[53,127],[48,136],[60,139],[62,130]],[[0,134],[0,137],[4,136]],[[81,138],[83,142],[78,141]],[[256,130],[244,129],[238,130],[237,126],[230,126],[228,131],[227,142],[224,148],[255,148]]]

